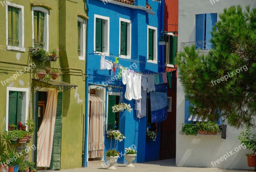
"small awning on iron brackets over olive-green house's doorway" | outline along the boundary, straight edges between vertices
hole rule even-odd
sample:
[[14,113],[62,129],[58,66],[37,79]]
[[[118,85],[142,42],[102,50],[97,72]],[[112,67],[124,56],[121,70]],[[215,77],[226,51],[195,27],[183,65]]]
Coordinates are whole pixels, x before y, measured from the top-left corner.
[[67,91],[67,90],[73,90],[73,89],[76,89],[77,85],[74,85],[74,84],[70,84],[70,83],[67,83],[67,82],[63,82],[63,81],[59,81],[59,80],[49,80],[48,82],[45,82],[43,80],[40,80],[40,79],[34,79],[32,78],[33,80],[33,90],[37,91],[37,90],[40,90],[41,88],[44,88],[44,87],[48,87],[50,88],[50,86],[52,86],[53,88],[59,90],[60,92],[64,92],[64,91]]

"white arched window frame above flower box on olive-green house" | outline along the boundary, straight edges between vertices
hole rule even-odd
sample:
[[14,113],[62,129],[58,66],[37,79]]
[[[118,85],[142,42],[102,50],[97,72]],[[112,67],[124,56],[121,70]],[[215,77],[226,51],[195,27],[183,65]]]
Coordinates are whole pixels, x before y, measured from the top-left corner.
[[49,10],[43,7],[32,7],[32,47],[35,46],[34,11],[44,13],[44,50],[49,52]]

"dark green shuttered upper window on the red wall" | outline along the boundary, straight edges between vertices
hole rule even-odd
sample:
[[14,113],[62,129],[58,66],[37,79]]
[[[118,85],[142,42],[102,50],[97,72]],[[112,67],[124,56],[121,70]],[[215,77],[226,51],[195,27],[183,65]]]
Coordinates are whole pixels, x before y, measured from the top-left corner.
[[166,35],[166,57],[165,63],[175,64],[174,59],[177,56],[177,41],[178,37],[173,35]]

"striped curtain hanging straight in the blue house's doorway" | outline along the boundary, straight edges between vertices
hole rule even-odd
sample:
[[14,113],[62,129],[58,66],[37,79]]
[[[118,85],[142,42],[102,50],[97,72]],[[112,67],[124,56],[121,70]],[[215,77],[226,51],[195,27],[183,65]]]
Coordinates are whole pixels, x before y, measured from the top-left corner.
[[91,116],[89,124],[89,158],[104,156],[104,101],[95,94],[90,95]]

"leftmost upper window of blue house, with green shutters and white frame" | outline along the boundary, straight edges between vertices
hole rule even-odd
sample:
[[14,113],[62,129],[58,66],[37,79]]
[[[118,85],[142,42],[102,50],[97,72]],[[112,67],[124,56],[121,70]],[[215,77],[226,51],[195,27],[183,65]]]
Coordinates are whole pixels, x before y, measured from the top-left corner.
[[109,54],[109,17],[94,15],[94,51]]

